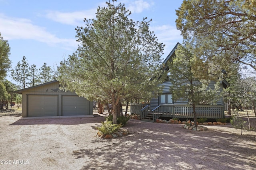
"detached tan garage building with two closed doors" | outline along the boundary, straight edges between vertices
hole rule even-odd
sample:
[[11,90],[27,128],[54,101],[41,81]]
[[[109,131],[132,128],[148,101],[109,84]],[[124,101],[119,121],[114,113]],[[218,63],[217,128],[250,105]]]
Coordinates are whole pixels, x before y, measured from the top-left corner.
[[74,92],[60,90],[57,80],[17,90],[22,94],[22,117],[92,116],[92,102]]

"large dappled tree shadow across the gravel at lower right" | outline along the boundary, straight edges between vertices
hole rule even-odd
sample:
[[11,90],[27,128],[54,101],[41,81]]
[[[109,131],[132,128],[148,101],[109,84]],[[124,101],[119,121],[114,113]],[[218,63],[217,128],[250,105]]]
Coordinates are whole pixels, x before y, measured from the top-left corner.
[[[145,127],[147,125],[147,127]],[[130,135],[102,139],[97,148],[73,151],[82,169],[240,169],[256,168],[255,136],[190,131],[179,125],[129,121]],[[254,140],[253,140],[254,139]]]

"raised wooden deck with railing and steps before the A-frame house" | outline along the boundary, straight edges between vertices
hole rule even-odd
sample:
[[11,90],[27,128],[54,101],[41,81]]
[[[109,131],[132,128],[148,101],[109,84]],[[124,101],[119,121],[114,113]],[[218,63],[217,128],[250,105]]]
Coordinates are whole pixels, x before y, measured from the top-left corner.
[[[159,105],[150,109],[148,104],[131,104],[131,113],[142,116],[142,119],[152,117],[156,121],[159,117],[193,118],[193,109],[190,105]],[[224,106],[200,105],[196,106],[197,118],[219,119],[224,118]]]

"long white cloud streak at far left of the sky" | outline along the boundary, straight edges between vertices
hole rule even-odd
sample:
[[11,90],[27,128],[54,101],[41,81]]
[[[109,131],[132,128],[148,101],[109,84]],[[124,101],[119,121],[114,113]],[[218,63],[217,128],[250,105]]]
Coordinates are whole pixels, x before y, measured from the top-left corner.
[[75,39],[62,39],[46,31],[46,28],[33,25],[31,20],[24,18],[11,18],[0,14],[0,31],[2,37],[12,39],[32,39],[50,46],[62,46],[64,48],[77,46]]

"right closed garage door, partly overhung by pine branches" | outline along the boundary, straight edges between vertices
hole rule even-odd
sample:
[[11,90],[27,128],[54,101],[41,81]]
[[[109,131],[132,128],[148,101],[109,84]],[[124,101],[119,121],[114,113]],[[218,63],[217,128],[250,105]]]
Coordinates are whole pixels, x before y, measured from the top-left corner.
[[62,96],[62,115],[89,115],[89,101],[78,96]]

